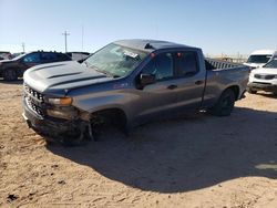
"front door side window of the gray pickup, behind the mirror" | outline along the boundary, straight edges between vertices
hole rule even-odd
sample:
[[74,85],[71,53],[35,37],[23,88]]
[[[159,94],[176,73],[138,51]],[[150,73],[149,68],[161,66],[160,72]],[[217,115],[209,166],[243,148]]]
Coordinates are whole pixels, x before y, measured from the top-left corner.
[[156,55],[150,61],[142,72],[146,74],[154,74],[157,81],[172,77],[174,75],[173,54],[163,53]]

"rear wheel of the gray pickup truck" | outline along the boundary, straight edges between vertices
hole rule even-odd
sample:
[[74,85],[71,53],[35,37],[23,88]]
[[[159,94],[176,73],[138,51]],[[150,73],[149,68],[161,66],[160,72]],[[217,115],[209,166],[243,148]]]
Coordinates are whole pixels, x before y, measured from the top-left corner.
[[234,91],[227,89],[226,91],[223,92],[219,100],[212,108],[212,114],[216,116],[229,116],[230,113],[233,112],[235,101],[236,97]]

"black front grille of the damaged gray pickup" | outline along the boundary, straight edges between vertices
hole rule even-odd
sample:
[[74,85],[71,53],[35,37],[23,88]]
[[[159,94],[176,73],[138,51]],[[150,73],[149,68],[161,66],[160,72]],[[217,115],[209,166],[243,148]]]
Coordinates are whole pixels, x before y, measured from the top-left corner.
[[38,115],[44,117],[44,111],[42,110],[43,104],[43,95],[38,91],[34,91],[25,83],[23,84],[24,87],[24,98],[27,105]]

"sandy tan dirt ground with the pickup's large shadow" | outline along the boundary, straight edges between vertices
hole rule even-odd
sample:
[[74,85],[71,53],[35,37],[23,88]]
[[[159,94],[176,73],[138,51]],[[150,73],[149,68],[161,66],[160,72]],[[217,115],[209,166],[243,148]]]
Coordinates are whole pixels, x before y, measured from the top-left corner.
[[0,81],[0,207],[277,207],[270,94],[62,147],[22,121],[21,84]]

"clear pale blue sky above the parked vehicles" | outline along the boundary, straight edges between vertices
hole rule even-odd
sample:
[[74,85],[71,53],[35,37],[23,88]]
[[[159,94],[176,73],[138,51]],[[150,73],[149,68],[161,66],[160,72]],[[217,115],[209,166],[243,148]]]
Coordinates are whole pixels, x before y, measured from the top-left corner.
[[[89,51],[158,39],[208,54],[277,49],[277,0],[0,0],[0,51]],[[83,29],[83,49],[82,49]]]

